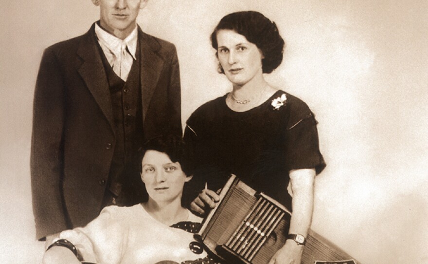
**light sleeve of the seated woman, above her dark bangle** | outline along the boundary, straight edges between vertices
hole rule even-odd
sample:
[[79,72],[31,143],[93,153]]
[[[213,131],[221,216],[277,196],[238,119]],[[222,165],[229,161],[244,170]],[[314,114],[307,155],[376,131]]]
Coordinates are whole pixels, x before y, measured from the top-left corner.
[[119,207],[105,207],[87,226],[62,231],[60,238],[76,246],[81,261],[119,264],[125,253],[129,229],[121,211]]

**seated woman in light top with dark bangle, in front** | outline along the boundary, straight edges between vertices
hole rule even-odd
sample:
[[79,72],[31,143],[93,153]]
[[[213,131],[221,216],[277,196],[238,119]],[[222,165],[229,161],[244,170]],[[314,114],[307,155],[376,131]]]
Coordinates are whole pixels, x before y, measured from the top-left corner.
[[106,207],[87,226],[61,232],[43,263],[214,263],[193,239],[202,219],[181,206],[183,186],[192,178],[183,147],[176,136],[146,142],[141,179],[148,200]]

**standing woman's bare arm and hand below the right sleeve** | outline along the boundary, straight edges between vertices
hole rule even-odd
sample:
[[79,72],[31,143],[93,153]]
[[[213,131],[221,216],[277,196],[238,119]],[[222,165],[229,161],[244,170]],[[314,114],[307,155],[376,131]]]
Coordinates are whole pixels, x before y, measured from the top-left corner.
[[[312,223],[314,207],[315,169],[290,170],[293,214],[289,234],[300,234],[307,238]],[[286,190],[285,190],[286,191]],[[304,245],[286,240],[285,245],[272,257],[269,264],[300,264]]]

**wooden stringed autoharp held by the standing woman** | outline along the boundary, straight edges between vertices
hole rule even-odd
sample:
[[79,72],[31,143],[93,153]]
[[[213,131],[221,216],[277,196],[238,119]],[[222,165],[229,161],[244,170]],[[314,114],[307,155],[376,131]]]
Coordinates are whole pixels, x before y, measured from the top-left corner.
[[[264,193],[258,193],[232,175],[220,192],[220,201],[195,234],[208,251],[227,263],[267,264],[286,240],[291,212]],[[356,263],[310,230],[302,263],[315,261]]]

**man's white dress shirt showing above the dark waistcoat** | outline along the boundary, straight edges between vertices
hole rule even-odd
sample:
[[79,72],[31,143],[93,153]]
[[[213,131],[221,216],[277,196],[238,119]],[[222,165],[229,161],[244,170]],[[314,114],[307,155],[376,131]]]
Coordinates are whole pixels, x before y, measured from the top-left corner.
[[131,66],[136,60],[137,26],[124,40],[117,38],[95,23],[95,34],[101,49],[113,71],[124,81],[128,78]]

